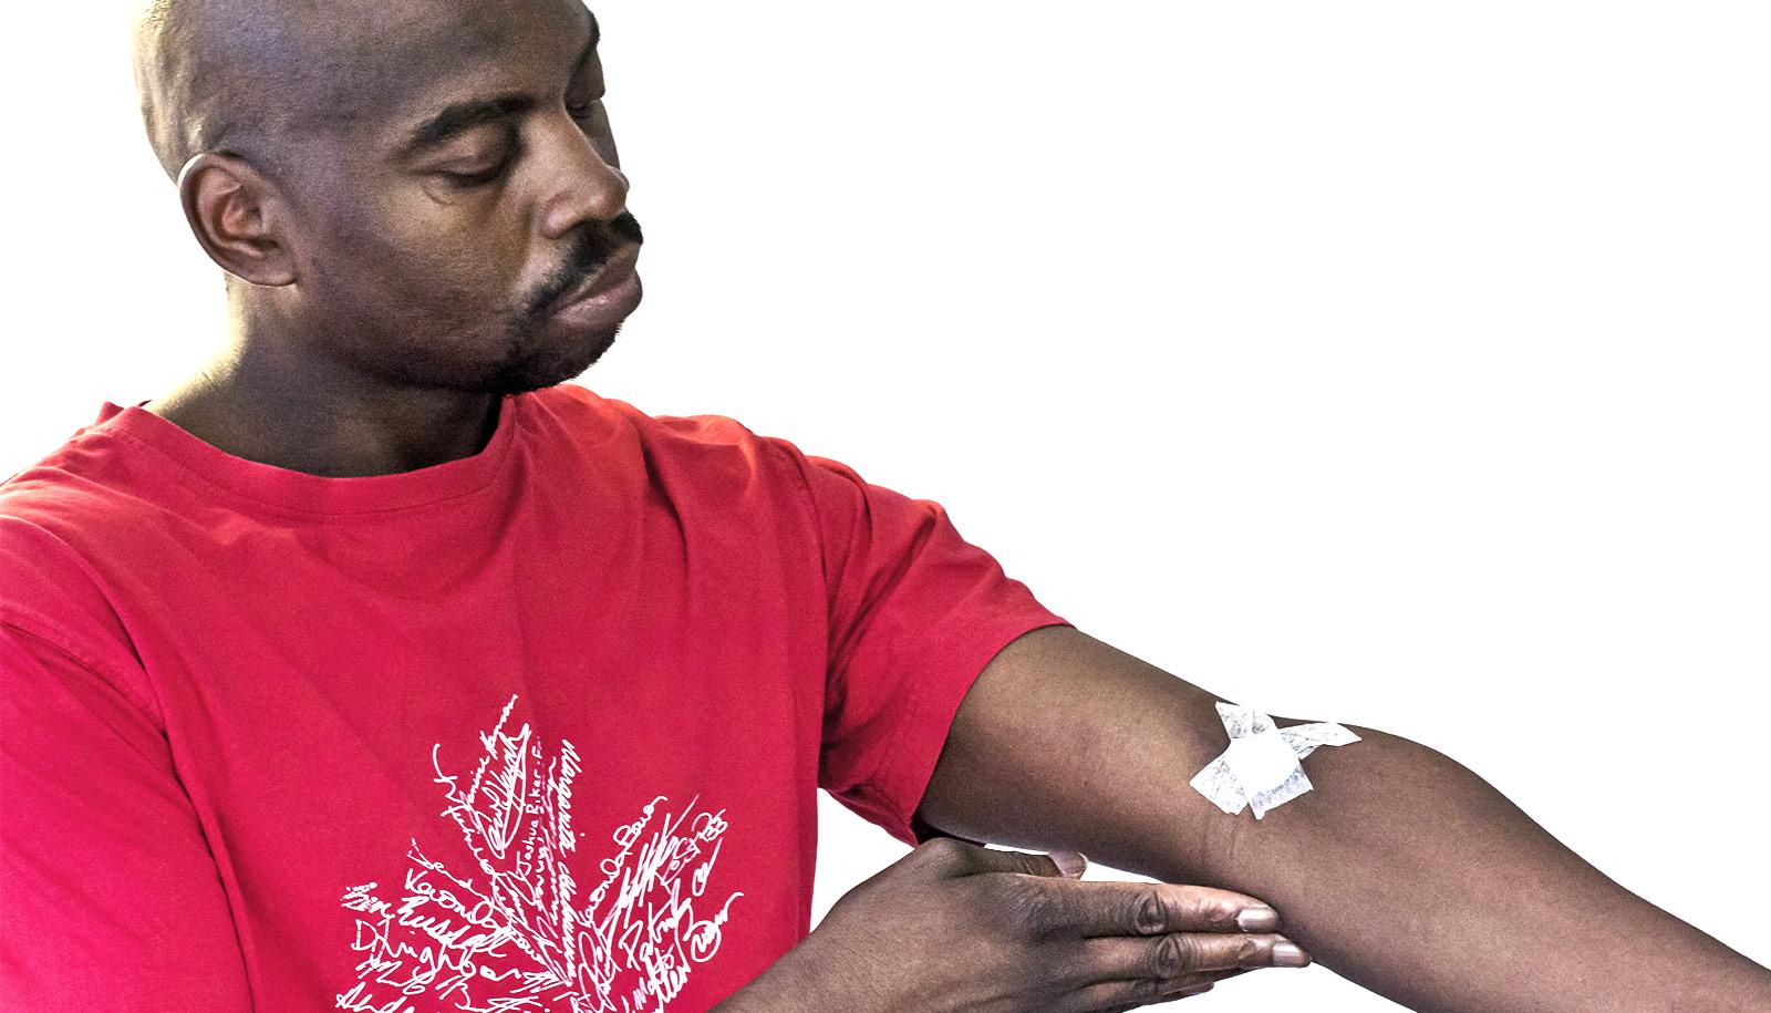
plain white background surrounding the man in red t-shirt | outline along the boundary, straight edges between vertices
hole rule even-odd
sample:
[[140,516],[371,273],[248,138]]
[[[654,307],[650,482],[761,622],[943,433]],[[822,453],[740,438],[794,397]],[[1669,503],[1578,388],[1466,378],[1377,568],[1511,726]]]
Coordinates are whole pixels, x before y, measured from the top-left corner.
[[[583,383],[937,499],[1080,629],[1429,742],[1771,962],[1764,5],[597,11],[646,303]],[[220,338],[122,27],[9,11],[0,475]],[[825,802],[820,916],[903,854]],[[1305,999],[1396,1008],[1199,1002]]]

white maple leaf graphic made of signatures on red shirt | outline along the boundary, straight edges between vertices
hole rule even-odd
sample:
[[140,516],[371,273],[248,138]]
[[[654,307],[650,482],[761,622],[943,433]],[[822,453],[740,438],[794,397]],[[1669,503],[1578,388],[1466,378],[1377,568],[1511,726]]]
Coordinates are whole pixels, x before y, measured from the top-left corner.
[[512,696],[480,733],[471,777],[443,770],[441,744],[430,751],[448,800],[441,815],[460,831],[478,877],[446,870],[414,839],[398,900],[377,896],[374,882],[349,887],[342,903],[358,912],[351,947],[363,960],[338,1009],[659,1013],[719,951],[731,901],[744,896],[703,900],[724,809],[696,811],[696,797],[673,811],[657,795],[609,836],[602,880],[579,905],[567,868],[584,836],[572,831],[577,749],[561,740],[547,760],[528,723],[507,731],[515,705]]

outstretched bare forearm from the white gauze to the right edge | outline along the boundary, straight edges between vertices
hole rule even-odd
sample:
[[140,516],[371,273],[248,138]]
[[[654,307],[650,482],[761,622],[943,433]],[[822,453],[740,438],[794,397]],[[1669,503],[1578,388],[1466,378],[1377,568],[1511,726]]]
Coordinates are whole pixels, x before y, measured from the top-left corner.
[[[1316,790],[1204,855],[1126,855],[1273,903],[1323,965],[1415,1009],[1771,1009],[1771,974],[1622,889],[1486,781],[1404,738],[1321,749]],[[1174,790],[1187,790],[1176,783]]]

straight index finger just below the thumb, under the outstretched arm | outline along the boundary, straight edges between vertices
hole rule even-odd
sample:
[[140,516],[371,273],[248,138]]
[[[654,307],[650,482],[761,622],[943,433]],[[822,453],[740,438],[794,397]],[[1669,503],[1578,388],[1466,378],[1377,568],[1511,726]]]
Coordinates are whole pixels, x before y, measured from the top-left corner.
[[1249,894],[1178,884],[1054,880],[1040,884],[1054,928],[1077,935],[1273,932],[1279,912]]

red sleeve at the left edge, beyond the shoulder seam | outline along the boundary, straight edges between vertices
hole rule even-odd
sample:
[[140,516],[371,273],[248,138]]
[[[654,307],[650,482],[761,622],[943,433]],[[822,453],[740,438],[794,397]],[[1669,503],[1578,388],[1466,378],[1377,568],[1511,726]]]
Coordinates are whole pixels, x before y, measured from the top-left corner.
[[0,616],[0,1009],[244,1013],[244,960],[165,735]]

